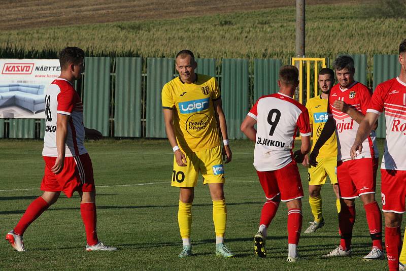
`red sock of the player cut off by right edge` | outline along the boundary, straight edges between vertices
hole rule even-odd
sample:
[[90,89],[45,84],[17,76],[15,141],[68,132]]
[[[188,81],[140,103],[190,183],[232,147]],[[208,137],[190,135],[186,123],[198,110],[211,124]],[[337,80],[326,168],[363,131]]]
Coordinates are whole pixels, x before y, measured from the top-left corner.
[[401,249],[400,226],[385,227],[385,247],[389,270],[399,270],[399,254]]

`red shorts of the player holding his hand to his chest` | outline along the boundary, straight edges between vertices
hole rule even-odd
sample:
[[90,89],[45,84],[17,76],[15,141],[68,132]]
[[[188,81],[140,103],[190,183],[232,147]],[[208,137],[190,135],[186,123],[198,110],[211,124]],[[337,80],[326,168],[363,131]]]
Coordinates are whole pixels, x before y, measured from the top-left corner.
[[351,199],[363,194],[375,194],[374,162],[375,158],[337,161],[337,180],[341,198]]

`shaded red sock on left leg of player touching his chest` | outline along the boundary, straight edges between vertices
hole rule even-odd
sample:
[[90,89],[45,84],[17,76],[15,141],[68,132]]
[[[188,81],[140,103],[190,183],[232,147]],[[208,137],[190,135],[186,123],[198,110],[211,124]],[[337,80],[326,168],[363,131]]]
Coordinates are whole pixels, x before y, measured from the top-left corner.
[[351,248],[352,227],[355,223],[355,206],[341,205],[339,213],[340,246],[343,250]]

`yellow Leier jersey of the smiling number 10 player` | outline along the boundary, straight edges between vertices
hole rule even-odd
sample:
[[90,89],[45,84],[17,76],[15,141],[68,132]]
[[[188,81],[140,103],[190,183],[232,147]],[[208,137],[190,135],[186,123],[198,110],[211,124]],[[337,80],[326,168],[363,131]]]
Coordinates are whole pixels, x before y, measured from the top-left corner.
[[196,74],[195,82],[180,77],[162,89],[162,108],[174,111],[175,136],[183,151],[197,152],[220,145],[213,101],[220,98],[214,77]]

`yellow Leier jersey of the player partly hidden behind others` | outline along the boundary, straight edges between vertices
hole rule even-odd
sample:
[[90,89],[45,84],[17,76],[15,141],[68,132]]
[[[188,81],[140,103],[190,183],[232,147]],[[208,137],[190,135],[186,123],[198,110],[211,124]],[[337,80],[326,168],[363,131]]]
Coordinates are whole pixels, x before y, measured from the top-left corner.
[[[306,108],[309,111],[310,124],[313,125],[313,146],[319,139],[324,124],[328,119],[327,115],[328,100],[321,98],[321,95],[308,99]],[[335,131],[327,142],[320,148],[319,157],[336,157],[337,156],[337,140]]]

